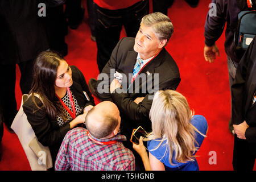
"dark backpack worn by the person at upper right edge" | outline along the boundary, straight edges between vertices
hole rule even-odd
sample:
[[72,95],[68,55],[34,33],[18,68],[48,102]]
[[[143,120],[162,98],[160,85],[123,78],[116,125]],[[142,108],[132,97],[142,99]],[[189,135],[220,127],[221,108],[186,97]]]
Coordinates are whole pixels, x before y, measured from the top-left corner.
[[247,0],[247,10],[238,14],[237,30],[234,34],[234,46],[237,51],[246,50],[256,35],[255,6],[255,0]]

